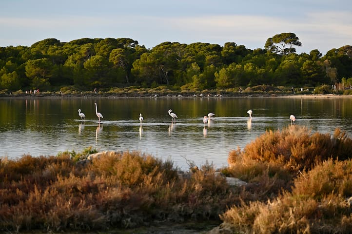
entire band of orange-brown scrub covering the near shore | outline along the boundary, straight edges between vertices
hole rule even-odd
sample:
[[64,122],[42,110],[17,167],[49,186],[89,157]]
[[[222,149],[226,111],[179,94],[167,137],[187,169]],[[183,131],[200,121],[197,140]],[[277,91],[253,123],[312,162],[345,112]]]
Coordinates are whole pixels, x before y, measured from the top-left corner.
[[[22,156],[0,162],[0,230],[107,230],[217,220],[211,233],[350,233],[352,139],[339,129],[268,131],[211,164],[179,172],[139,152]],[[83,160],[82,160],[83,159]],[[193,166],[193,165],[192,165]]]

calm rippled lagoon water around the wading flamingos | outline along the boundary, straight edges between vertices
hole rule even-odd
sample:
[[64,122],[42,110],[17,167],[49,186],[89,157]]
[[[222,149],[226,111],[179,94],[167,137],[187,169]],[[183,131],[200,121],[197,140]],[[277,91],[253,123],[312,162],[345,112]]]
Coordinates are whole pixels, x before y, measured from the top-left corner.
[[[94,102],[104,117],[100,123]],[[178,116],[176,123],[169,109]],[[204,125],[203,116],[210,112],[215,117]],[[352,98],[2,98],[0,157],[57,155],[91,146],[140,151],[171,159],[181,169],[206,161],[220,168],[227,166],[231,150],[291,125],[291,114],[296,125],[313,132],[333,134],[341,128],[352,137]]]

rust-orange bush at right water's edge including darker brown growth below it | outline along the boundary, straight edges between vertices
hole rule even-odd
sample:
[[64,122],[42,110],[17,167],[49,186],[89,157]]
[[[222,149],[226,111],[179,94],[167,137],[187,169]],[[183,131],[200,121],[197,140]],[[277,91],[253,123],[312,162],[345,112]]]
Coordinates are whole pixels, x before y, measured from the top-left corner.
[[280,191],[291,191],[293,178],[311,170],[329,158],[350,158],[352,139],[336,129],[334,134],[312,133],[306,127],[293,125],[268,131],[248,144],[243,151],[229,153],[227,176],[250,183],[245,199],[265,201]]

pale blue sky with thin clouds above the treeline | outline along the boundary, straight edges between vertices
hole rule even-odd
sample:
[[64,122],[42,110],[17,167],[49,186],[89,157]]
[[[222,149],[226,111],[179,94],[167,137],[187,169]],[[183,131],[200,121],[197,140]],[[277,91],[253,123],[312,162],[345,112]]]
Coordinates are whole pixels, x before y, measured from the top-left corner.
[[131,38],[152,49],[165,42],[226,42],[263,48],[296,34],[297,53],[352,45],[350,0],[1,0],[0,47],[43,39]]

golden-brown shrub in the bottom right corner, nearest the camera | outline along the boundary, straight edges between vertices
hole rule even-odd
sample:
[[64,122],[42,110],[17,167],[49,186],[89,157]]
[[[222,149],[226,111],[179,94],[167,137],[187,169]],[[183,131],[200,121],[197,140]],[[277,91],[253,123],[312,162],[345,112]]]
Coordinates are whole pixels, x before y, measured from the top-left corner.
[[351,233],[351,181],[351,160],[328,159],[295,178],[292,192],[232,207],[222,225],[234,233]]

